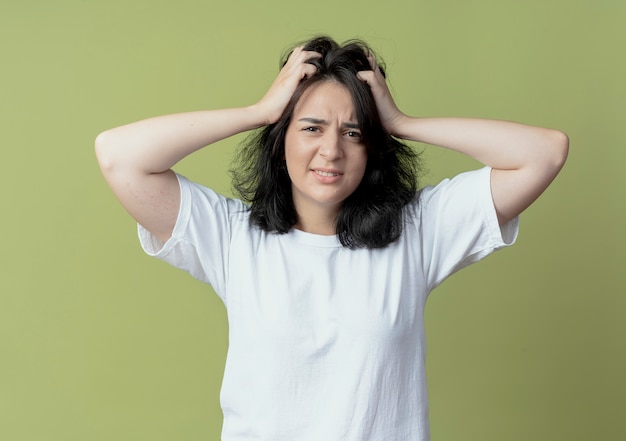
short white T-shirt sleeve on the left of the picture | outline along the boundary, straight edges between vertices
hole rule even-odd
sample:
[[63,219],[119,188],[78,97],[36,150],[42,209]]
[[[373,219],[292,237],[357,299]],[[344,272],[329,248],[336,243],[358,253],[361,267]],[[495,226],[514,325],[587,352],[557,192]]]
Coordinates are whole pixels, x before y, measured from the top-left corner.
[[233,223],[241,221],[246,207],[241,201],[176,176],[180,207],[172,236],[162,242],[138,225],[139,241],[148,255],[210,284],[223,298]]

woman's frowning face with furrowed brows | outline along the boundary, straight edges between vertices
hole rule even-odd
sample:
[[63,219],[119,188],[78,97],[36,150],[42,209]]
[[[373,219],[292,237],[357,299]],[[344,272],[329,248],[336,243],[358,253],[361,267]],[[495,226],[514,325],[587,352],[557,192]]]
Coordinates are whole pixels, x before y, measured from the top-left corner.
[[343,201],[359,186],[367,164],[345,86],[326,81],[304,92],[285,135],[285,160],[298,217],[335,219]]

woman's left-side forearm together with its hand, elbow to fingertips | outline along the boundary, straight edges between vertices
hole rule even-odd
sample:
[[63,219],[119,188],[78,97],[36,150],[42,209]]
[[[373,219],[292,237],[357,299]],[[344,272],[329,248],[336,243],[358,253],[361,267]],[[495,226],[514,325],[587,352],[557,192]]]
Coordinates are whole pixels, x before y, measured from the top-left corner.
[[294,49],[288,62],[256,104],[160,116],[108,130],[98,136],[96,151],[105,175],[158,174],[187,155],[221,139],[276,122],[300,80],[315,72],[306,63],[316,52]]

